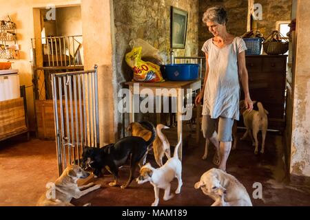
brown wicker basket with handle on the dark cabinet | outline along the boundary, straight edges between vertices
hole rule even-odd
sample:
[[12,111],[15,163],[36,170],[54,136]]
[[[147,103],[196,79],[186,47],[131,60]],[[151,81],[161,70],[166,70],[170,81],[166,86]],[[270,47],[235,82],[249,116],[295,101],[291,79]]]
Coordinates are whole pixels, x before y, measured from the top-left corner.
[[265,53],[269,55],[285,54],[289,50],[289,41],[278,31],[273,31],[262,45]]

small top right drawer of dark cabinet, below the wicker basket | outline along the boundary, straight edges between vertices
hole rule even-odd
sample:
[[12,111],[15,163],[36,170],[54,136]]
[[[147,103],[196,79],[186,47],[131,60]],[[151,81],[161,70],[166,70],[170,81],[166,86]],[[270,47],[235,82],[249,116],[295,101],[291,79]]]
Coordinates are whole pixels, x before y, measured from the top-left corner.
[[286,56],[285,57],[265,57],[262,58],[262,72],[286,72]]

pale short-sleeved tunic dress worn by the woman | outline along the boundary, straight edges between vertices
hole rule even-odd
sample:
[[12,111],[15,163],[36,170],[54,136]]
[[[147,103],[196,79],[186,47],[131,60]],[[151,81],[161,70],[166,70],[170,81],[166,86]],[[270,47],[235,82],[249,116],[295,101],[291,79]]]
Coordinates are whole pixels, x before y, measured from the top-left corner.
[[238,36],[223,48],[214,45],[212,39],[204,43],[202,51],[208,54],[209,74],[203,98],[203,115],[239,120],[238,54],[245,50],[245,41]]

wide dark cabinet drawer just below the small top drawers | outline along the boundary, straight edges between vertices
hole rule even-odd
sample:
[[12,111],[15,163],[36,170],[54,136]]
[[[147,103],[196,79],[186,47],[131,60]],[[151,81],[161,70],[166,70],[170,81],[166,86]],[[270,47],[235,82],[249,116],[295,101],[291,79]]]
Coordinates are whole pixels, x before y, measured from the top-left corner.
[[272,74],[249,74],[249,89],[285,89],[285,75],[282,73]]

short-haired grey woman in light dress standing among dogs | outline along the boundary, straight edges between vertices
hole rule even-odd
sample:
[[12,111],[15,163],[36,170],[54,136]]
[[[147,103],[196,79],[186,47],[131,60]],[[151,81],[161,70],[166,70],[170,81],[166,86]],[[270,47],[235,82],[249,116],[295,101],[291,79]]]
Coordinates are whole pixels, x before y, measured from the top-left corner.
[[[203,22],[214,37],[202,48],[206,57],[205,81],[196,104],[203,98],[203,135],[206,144],[216,146],[218,168],[226,170],[231,150],[231,129],[234,120],[239,120],[239,79],[245,92],[247,111],[253,109],[249,95],[248,75],[245,66],[245,41],[226,30],[227,12],[216,6],[203,14]],[[218,120],[218,133],[215,131]]]

